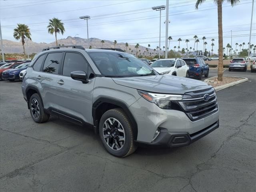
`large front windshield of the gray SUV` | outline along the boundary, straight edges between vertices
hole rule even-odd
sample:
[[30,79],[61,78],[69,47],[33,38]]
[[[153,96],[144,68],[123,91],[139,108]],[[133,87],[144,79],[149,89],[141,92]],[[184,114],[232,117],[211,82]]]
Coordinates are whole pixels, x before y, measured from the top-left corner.
[[101,74],[109,77],[158,75],[142,60],[123,52],[88,52]]

